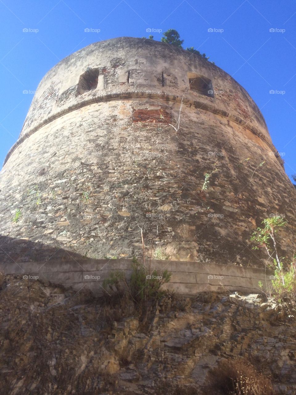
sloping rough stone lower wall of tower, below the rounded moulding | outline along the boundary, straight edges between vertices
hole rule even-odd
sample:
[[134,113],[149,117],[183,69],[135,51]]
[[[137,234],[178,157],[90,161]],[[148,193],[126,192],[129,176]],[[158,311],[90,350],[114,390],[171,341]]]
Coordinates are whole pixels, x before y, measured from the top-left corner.
[[[139,108],[175,114],[179,105],[94,103],[26,139],[1,172],[0,233],[97,259],[141,258],[141,227],[147,254],[152,244],[174,260],[264,267],[264,251],[251,250],[249,239],[279,213],[288,222],[279,246],[289,256],[296,191],[262,140],[189,106],[178,133],[165,122],[133,122]],[[34,250],[4,251],[2,261],[40,259]]]

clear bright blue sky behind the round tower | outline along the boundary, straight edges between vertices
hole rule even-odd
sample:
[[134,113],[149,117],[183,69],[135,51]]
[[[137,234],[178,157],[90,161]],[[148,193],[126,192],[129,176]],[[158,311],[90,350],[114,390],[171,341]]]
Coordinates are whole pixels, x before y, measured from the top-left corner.
[[[0,19],[1,164],[33,98],[23,90],[36,90],[60,59],[95,41],[148,37],[147,28],[174,28],[185,40],[184,48],[205,52],[249,92],[275,147],[285,154],[287,174],[296,173],[295,1],[0,0]],[[84,32],[86,28],[100,32]],[[155,40],[160,38],[161,33],[154,33]]]

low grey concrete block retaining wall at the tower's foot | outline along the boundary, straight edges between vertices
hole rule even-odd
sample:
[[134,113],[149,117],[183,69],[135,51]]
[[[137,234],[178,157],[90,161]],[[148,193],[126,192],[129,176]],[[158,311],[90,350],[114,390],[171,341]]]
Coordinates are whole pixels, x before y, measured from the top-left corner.
[[[46,263],[2,263],[0,271],[5,274],[22,274],[32,281],[38,277],[39,280],[73,287],[77,291],[89,288],[94,293],[101,294],[103,280],[109,273],[120,270],[128,277],[131,274],[131,264],[131,260],[127,259],[50,260]],[[168,270],[171,273],[171,280],[166,284],[166,288],[170,292],[183,295],[197,295],[207,291],[259,293],[259,281],[263,284],[263,290],[271,286],[271,271],[232,264],[153,260],[150,265],[150,262],[146,261],[147,274],[154,269],[159,275],[163,270]]]

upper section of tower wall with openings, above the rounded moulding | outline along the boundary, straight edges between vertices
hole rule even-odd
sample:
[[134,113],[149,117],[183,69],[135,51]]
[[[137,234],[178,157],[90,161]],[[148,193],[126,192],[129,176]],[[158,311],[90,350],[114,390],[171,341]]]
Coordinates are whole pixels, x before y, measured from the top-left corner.
[[[98,86],[77,95],[79,78],[89,69],[99,70]],[[275,151],[259,108],[225,71],[201,56],[165,43],[127,37],[94,43],[54,66],[37,88],[20,137],[28,137],[73,109],[106,98],[144,94],[180,101],[188,88],[189,75],[195,73],[212,81],[214,94],[204,96],[189,88],[185,102],[195,102],[201,108],[246,124]]]

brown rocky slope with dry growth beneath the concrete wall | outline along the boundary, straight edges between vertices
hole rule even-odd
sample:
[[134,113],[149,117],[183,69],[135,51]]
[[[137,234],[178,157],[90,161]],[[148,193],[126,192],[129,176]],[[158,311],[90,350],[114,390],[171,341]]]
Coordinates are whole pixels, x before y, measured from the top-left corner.
[[202,394],[210,369],[234,357],[296,393],[294,313],[260,295],[170,296],[144,327],[129,299],[2,280],[3,394]]

